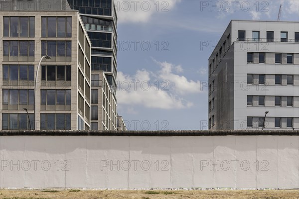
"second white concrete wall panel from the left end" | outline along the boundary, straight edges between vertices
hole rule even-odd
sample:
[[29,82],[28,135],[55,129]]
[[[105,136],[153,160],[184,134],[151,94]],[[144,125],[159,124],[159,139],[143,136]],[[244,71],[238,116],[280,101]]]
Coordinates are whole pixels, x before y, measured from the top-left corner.
[[[43,188],[65,186],[65,170],[69,167],[67,162],[64,162],[66,160],[66,147],[64,145],[66,139],[67,137],[61,137],[61,139],[48,137],[47,142],[40,142],[38,137],[24,137],[24,160],[31,162],[31,168],[36,166],[36,171],[24,168],[27,170],[25,171],[24,187],[33,186]],[[42,148],[44,151],[40,150]],[[34,165],[33,161],[38,162]],[[49,175],[53,171],[55,171],[57,175]]]

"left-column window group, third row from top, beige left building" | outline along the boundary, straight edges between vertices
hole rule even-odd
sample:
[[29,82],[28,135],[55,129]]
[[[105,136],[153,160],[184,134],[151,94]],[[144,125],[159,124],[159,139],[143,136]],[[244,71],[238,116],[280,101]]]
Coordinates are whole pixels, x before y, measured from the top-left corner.
[[3,65],[3,80],[34,81],[34,66]]

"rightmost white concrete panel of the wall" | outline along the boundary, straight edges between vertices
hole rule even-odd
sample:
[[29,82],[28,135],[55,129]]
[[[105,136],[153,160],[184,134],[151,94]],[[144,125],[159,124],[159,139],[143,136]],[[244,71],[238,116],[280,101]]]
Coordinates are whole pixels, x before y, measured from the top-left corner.
[[[278,187],[299,188],[299,137],[284,136],[278,139]],[[292,162],[292,164],[290,164]]]

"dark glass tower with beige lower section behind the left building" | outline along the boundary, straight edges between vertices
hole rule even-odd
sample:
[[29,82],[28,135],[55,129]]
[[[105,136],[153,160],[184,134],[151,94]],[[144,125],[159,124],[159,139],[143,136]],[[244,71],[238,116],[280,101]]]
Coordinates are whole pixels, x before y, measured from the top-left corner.
[[71,9],[80,12],[91,39],[91,129],[116,130],[117,14],[114,0],[67,1]]

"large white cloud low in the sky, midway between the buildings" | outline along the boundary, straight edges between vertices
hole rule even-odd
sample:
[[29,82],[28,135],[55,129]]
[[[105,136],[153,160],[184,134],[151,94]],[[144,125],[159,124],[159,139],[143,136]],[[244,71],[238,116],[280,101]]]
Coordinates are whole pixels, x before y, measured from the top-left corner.
[[[184,98],[188,93],[200,93],[201,83],[175,74],[183,71],[180,65],[155,60],[154,62],[160,67],[155,72],[145,69],[138,70],[134,75],[118,72],[118,103],[161,109],[193,106],[191,101]],[[128,111],[135,113],[134,109]]]

